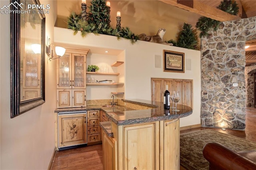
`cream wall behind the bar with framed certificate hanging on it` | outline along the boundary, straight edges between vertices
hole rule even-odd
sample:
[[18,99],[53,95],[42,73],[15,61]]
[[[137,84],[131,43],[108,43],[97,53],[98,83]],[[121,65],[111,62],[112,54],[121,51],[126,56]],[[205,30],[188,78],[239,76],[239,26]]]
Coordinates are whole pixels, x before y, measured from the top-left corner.
[[[65,36],[63,36],[65,35]],[[82,38],[79,33],[74,36],[73,32],[65,28],[54,28],[54,40],[57,43],[79,45],[80,47],[102,47],[125,50],[125,85],[126,99],[151,100],[151,77],[193,79],[193,114],[182,118],[180,126],[200,124],[200,101],[201,101],[201,71],[200,51],[180,47],[162,45],[138,41],[132,45],[129,40],[117,40],[114,36],[88,34]],[[154,55],[161,55],[163,49],[185,53],[186,59],[191,60],[191,71],[185,69],[185,73],[163,72],[162,68],[154,68]],[[162,63],[162,61],[161,61]]]

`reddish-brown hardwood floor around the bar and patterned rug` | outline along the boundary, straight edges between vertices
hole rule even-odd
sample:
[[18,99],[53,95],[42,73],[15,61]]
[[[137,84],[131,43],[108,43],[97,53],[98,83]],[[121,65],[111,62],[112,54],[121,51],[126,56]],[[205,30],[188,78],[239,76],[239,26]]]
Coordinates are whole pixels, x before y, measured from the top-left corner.
[[[205,127],[182,130],[180,134],[204,130]],[[245,130],[222,130],[220,128],[210,128],[222,133],[231,134],[240,138],[256,142],[256,109],[246,109]],[[70,150],[62,150],[56,153],[51,170],[102,170],[102,144],[86,146]],[[184,168],[180,167],[181,170]]]

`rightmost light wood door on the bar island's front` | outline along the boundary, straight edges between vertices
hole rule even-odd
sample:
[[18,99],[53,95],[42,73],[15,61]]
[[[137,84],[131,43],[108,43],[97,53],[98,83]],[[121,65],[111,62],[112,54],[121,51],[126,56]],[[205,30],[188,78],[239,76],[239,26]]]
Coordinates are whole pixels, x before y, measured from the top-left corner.
[[[160,149],[164,161],[164,170],[178,170],[180,169],[180,120],[164,121],[164,140],[163,149]],[[160,148],[162,148],[160,146]],[[162,165],[162,164],[161,164]]]

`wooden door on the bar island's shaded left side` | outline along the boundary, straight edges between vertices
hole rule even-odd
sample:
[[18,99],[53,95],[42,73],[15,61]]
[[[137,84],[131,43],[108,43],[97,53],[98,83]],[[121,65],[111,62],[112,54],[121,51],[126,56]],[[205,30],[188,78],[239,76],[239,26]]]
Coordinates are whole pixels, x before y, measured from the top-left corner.
[[117,144],[115,138],[108,137],[103,132],[103,170],[117,170]]

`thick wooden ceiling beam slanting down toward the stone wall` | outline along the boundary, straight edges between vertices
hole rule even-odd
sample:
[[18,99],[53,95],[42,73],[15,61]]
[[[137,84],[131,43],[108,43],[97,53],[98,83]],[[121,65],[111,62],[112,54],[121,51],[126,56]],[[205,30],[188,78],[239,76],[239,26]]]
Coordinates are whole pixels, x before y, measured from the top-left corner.
[[169,4],[169,5],[176,6],[178,8],[187,10],[189,12],[194,12],[201,16],[206,16],[208,18],[212,18],[212,19],[220,21],[220,22],[241,19],[239,16],[231,15],[231,14],[224,12],[222,10],[219,10],[215,7],[208,6],[198,0],[193,0],[193,8],[178,3],[181,0],[160,0],[160,1],[162,1],[166,4]]

